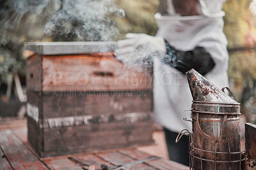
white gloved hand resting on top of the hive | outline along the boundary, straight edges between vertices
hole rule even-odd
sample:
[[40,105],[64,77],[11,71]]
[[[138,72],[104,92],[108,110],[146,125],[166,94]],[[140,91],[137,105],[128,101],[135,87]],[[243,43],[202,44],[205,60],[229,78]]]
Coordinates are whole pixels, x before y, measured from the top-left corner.
[[143,62],[153,57],[163,59],[166,53],[165,42],[161,37],[128,33],[125,38],[127,39],[117,41],[115,56],[127,64]]

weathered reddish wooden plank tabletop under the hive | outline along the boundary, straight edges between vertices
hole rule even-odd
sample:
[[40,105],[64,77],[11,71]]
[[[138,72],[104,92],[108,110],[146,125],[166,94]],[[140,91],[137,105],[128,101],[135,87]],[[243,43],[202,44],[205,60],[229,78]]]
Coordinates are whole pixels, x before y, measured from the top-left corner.
[[[40,159],[31,149],[27,140],[26,127],[18,129],[2,129],[0,131],[0,169],[87,169],[68,159],[74,157],[88,165],[101,169],[101,164],[115,166],[132,162],[138,159],[150,157],[148,153],[136,150],[136,148],[124,148],[121,150],[108,150],[105,152],[82,153],[63,157]],[[177,162],[166,159],[150,160],[124,169],[189,169]]]

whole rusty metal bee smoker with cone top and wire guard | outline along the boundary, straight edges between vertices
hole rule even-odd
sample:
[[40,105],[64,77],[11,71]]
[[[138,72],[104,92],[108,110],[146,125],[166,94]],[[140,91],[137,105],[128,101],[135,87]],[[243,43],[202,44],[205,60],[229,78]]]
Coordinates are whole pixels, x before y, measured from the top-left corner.
[[[191,69],[186,73],[193,96],[191,108],[190,169],[241,169],[244,160],[240,148],[240,104]],[[231,93],[231,92],[230,92]]]

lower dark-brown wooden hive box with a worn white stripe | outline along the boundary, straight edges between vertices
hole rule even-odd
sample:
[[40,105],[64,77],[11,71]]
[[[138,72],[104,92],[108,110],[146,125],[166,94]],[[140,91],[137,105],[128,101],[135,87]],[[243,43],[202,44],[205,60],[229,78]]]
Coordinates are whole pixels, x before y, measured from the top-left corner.
[[149,145],[152,92],[131,93],[78,97],[28,92],[29,143],[41,157]]

